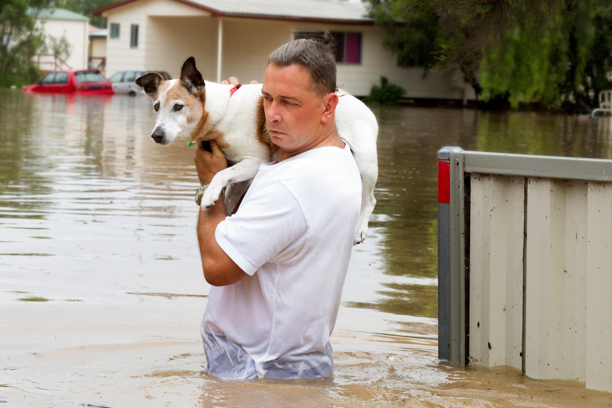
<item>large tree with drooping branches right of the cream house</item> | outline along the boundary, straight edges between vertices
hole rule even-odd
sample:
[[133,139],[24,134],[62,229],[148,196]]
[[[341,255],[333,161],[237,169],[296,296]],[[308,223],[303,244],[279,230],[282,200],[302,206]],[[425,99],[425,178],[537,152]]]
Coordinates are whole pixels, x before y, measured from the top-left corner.
[[[368,1],[375,23],[392,26],[389,35],[398,42],[408,37],[394,32],[414,31],[415,18],[437,19],[437,39],[421,42],[434,45],[428,48],[434,68],[459,67],[485,101],[509,100],[515,108],[592,103],[593,94],[610,86],[612,6],[606,0]],[[418,12],[407,18],[411,10]],[[390,17],[376,17],[384,13]],[[390,48],[402,64],[400,53],[410,46]]]

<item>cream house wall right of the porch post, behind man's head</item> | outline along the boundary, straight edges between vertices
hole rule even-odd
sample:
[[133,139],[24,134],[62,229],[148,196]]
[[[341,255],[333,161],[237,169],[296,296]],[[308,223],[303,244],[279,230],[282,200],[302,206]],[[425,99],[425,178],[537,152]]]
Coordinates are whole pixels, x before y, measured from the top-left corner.
[[[294,23],[288,21],[223,19],[222,78],[263,81],[267,56],[291,40],[296,29],[321,29],[362,33],[362,63],[337,65],[337,84],[353,95],[370,94],[373,84],[386,76],[406,89],[407,98],[476,99],[474,89],[453,72],[429,72],[419,67],[398,67],[397,56],[383,48],[385,31],[373,26]],[[216,50],[216,47],[215,47]],[[215,70],[216,71],[216,70]]]

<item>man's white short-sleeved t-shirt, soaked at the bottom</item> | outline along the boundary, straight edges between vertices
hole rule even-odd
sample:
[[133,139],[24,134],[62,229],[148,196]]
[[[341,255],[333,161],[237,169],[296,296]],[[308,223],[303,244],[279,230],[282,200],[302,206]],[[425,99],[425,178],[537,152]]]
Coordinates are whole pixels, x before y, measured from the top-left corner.
[[348,145],[261,165],[239,210],[217,226],[248,275],[212,287],[201,325],[209,372],[227,379],[332,373],[334,328],[361,205]]

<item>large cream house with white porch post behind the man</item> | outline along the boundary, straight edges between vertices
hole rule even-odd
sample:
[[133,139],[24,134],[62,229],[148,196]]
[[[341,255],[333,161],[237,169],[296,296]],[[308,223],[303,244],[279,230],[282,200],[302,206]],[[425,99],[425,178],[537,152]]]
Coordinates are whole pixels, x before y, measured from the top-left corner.
[[338,0],[123,0],[94,11],[108,18],[106,73],[163,70],[178,78],[195,56],[204,78],[263,81],[267,56],[296,29],[319,29],[338,39],[338,86],[356,96],[386,76],[408,98],[475,99],[452,72],[398,67],[383,48],[386,31],[364,17],[362,2]]

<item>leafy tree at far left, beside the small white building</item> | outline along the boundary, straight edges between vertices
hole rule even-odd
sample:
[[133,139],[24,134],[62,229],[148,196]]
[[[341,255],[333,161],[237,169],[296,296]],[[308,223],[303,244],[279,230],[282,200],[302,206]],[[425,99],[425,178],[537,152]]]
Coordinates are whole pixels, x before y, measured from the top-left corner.
[[44,46],[44,38],[35,26],[35,18],[50,4],[51,0],[0,2],[0,86],[37,78],[32,58]]

